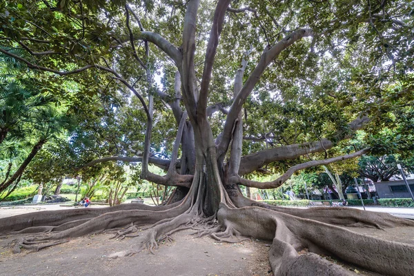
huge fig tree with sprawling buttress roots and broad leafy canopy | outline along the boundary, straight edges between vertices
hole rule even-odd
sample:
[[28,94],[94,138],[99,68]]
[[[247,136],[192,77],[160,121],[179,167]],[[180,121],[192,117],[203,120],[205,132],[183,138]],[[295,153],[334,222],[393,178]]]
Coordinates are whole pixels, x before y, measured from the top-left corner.
[[[139,102],[130,128],[141,129],[143,139],[77,169],[141,162],[141,179],[175,192],[162,206],[0,219],[0,232],[27,233],[17,246],[39,250],[115,228],[126,237],[152,224],[129,255],[152,252],[160,239],[193,227],[224,242],[273,241],[275,275],[348,275],[315,253],[385,275],[414,275],[414,246],[341,227],[413,221],[351,208],[279,208],[242,193],[386,151],[370,142],[387,133],[401,132],[393,149],[412,145],[413,132],[399,127],[413,114],[412,9],[403,0],[1,2],[3,55],[74,81],[90,97],[121,93]],[[364,144],[353,144],[356,132]],[[166,174],[150,172],[149,164]],[[281,176],[273,181],[249,177],[274,172]],[[299,255],[304,248],[309,253]]]

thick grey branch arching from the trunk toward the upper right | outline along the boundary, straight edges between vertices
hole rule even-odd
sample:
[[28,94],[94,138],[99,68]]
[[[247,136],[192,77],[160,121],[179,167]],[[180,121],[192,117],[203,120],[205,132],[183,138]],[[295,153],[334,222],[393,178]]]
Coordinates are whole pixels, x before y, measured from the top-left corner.
[[240,90],[239,94],[235,97],[235,101],[233,101],[233,104],[228,112],[226,124],[224,125],[223,137],[221,138],[220,144],[217,148],[219,161],[224,160],[224,156],[226,155],[230,144],[233,126],[239,116],[239,112],[242,110],[244,101],[246,101],[248,95],[250,95],[253,88],[255,88],[255,85],[257,81],[259,81],[260,77],[262,77],[264,70],[266,70],[270,62],[273,61],[280,54],[280,52],[282,52],[282,50],[288,48],[288,46],[295,43],[295,41],[298,41],[303,37],[310,36],[313,36],[313,30],[311,29],[296,30],[276,43],[275,46],[271,48],[267,47],[264,50],[264,53],[262,54],[259,63],[257,63],[255,70],[253,70],[246,83],[244,83],[242,90]]

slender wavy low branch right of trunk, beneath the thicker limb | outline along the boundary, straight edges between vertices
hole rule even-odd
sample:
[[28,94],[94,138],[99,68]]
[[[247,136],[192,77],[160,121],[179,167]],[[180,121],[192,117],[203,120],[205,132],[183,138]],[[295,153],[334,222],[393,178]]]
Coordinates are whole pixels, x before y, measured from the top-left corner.
[[349,155],[342,155],[342,156],[333,157],[333,158],[324,159],[324,160],[313,160],[313,161],[308,161],[308,162],[305,162],[305,163],[302,163],[302,164],[297,164],[295,166],[290,167],[281,177],[279,177],[279,178],[277,178],[273,181],[268,181],[268,182],[251,181],[251,180],[239,177],[239,175],[231,177],[230,181],[233,181],[235,184],[241,184],[241,185],[244,185],[244,186],[247,186],[247,187],[254,187],[254,188],[259,188],[259,189],[277,188],[277,187],[281,186],[282,184],[284,184],[284,182],[286,180],[288,180],[289,177],[291,177],[293,175],[293,173],[297,172],[298,170],[304,170],[305,168],[311,168],[311,167],[315,167],[315,166],[322,166],[322,165],[331,164],[331,163],[334,163],[334,162],[337,162],[337,161],[343,161],[343,160],[346,160],[346,159],[351,159],[351,158],[354,158],[354,157],[364,155],[368,151],[369,151],[369,148],[364,148],[364,150],[359,150],[359,151],[353,152]]

